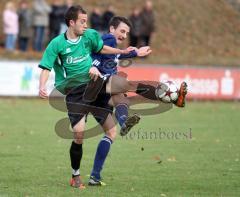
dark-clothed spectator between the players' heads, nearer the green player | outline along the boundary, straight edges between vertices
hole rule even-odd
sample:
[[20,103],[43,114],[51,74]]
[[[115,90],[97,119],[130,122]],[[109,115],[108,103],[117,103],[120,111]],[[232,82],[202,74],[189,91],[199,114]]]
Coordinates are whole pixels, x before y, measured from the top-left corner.
[[92,29],[102,34],[102,15],[99,7],[95,7],[90,15],[90,25]]

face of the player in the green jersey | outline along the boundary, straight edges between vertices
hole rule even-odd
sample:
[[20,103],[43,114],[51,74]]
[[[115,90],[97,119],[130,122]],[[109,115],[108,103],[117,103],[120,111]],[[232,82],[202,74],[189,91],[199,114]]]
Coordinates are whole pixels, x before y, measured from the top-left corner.
[[72,28],[73,33],[76,36],[81,36],[87,29],[87,19],[88,19],[87,14],[80,13],[78,15],[78,19],[76,21],[73,21]]

